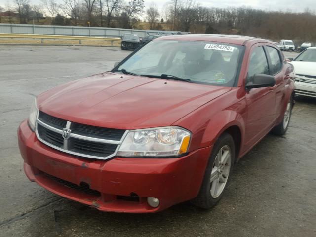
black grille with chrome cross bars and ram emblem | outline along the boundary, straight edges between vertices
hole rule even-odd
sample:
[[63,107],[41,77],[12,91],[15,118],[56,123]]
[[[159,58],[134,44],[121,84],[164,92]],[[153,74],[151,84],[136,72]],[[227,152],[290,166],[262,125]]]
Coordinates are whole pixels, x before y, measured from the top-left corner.
[[41,142],[86,158],[108,159],[115,156],[126,133],[126,130],[66,121],[42,111],[36,124],[36,135]]

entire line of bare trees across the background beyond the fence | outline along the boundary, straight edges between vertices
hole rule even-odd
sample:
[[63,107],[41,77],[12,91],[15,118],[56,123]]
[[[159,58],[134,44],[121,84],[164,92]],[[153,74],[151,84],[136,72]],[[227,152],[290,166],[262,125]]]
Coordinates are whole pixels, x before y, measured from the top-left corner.
[[52,24],[175,30],[191,33],[240,34],[266,39],[316,42],[316,15],[263,11],[248,7],[205,7],[195,0],[170,0],[161,11],[144,0],[11,0],[20,23],[30,10],[45,11]]

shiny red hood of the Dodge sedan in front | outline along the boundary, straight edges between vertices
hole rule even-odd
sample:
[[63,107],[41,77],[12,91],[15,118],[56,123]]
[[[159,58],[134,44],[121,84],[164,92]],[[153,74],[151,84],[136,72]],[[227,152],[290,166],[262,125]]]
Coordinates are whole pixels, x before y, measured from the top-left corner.
[[231,90],[175,80],[103,73],[41,94],[41,111],[78,123],[137,129],[169,126]]

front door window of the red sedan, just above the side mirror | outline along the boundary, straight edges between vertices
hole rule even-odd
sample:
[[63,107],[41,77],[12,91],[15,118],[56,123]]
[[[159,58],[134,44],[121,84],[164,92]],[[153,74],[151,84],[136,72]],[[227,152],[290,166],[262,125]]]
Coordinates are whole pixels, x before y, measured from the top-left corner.
[[268,61],[263,47],[255,48],[250,56],[248,81],[251,81],[255,74],[269,74]]

